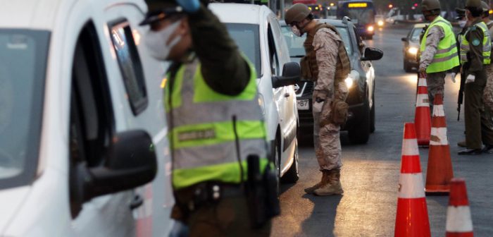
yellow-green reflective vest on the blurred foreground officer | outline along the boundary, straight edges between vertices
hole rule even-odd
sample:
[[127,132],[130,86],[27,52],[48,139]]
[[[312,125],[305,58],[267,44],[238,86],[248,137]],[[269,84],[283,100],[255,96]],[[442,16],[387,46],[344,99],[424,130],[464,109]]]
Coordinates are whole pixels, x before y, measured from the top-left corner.
[[244,165],[244,179],[246,157],[250,154],[262,158],[261,171],[268,164],[256,73],[249,65],[249,84],[237,96],[222,95],[208,87],[198,60],[181,66],[170,81],[173,91],[170,92],[170,85],[165,87],[168,121],[173,121],[170,142],[175,189],[204,181],[240,183],[238,157]]

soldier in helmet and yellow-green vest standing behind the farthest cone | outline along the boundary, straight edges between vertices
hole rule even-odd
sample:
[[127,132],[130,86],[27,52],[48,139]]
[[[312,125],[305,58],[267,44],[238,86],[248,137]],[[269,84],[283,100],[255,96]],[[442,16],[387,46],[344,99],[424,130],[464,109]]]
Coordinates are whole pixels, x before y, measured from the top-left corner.
[[419,65],[420,78],[426,78],[430,105],[435,94],[444,95],[445,77],[455,83],[452,68],[459,65],[456,39],[451,24],[440,15],[438,0],[423,0],[421,10],[425,19],[430,21],[421,40]]

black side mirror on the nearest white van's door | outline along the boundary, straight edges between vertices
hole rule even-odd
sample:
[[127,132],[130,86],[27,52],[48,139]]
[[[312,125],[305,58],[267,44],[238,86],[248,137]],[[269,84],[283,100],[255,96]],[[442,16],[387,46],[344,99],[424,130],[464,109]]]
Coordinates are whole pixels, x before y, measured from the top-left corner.
[[137,188],[154,179],[157,172],[156,152],[148,133],[131,130],[118,133],[106,150],[106,164],[88,168],[75,167],[74,190],[77,199],[86,202],[93,197]]

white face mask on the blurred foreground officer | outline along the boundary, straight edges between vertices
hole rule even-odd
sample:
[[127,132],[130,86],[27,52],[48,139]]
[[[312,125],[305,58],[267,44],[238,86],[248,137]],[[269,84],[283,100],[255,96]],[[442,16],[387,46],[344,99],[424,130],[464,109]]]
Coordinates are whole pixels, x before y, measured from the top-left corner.
[[149,53],[154,59],[158,59],[161,61],[165,61],[170,54],[171,49],[180,42],[182,37],[180,35],[175,36],[175,39],[171,41],[169,44],[166,44],[170,39],[170,36],[175,32],[176,28],[180,25],[181,20],[177,20],[175,23],[172,23],[168,27],[164,28],[160,31],[152,31],[148,30],[146,32],[146,37],[144,42],[146,44],[147,49],[149,49]]

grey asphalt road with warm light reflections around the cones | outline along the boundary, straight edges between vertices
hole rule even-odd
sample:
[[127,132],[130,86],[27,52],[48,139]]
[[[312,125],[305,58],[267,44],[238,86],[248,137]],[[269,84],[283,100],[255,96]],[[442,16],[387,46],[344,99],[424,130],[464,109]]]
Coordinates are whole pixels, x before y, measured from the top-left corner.
[[[394,236],[397,183],[404,123],[414,119],[416,73],[402,68],[402,43],[410,26],[378,30],[368,47],[385,56],[375,61],[376,131],[366,145],[351,145],[342,133],[342,186],[344,195],[316,197],[304,188],[320,180],[318,163],[309,139],[299,150],[299,181],[282,185],[282,214],[273,221],[272,236]],[[459,82],[446,82],[451,161],[455,177],[466,178],[475,236],[493,236],[493,154],[458,156],[463,140],[463,114],[457,121]],[[423,181],[428,150],[420,148]],[[445,235],[448,196],[427,196],[432,236]]]

